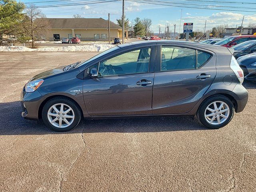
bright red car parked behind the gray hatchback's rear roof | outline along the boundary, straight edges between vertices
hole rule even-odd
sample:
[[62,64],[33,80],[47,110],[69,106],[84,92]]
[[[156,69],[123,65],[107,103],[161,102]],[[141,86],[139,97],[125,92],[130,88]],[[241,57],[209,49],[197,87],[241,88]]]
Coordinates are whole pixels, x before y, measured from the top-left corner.
[[250,40],[256,40],[256,35],[231,36],[214,43],[214,45],[220,45],[223,47],[232,47],[234,45],[237,45],[246,41],[250,41]]

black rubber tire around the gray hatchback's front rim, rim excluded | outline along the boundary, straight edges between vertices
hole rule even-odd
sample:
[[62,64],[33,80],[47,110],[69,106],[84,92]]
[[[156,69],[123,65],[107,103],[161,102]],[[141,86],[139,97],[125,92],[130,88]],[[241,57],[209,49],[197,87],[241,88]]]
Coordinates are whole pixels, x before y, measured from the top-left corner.
[[[58,128],[58,127],[52,125],[51,122],[48,120],[48,115],[47,115],[48,110],[54,104],[58,104],[58,103],[66,104],[66,105],[70,106],[70,108],[72,108],[72,110],[74,111],[73,122],[65,128]],[[57,132],[66,132],[66,131],[72,130],[79,124],[81,117],[82,117],[82,113],[81,113],[81,110],[80,110],[80,107],[78,106],[78,104],[76,104],[76,102],[74,102],[73,100],[68,99],[68,98],[63,98],[63,97],[52,98],[48,102],[46,102],[46,104],[44,105],[44,107],[42,109],[42,119],[44,121],[44,124],[51,130],[54,130]]]

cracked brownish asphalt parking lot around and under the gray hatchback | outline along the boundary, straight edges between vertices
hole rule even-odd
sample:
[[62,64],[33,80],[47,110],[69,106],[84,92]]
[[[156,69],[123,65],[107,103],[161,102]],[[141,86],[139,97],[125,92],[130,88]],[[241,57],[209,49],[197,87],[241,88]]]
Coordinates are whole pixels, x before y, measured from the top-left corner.
[[224,128],[193,118],[84,120],[70,132],[20,115],[34,75],[96,52],[0,52],[0,191],[256,191],[256,83]]

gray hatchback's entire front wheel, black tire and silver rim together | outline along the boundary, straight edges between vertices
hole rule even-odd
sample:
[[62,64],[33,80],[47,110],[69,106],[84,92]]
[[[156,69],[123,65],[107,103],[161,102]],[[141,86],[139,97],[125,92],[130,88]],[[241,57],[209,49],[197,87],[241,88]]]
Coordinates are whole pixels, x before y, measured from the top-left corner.
[[81,120],[79,106],[68,98],[53,98],[42,109],[46,126],[54,131],[64,132],[75,128]]

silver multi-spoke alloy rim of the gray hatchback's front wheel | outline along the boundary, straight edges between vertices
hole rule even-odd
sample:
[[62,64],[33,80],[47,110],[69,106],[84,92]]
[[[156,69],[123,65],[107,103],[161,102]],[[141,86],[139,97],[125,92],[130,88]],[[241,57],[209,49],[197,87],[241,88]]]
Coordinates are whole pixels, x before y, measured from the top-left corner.
[[64,103],[58,103],[49,108],[47,117],[53,126],[66,128],[74,122],[75,115],[70,106]]

